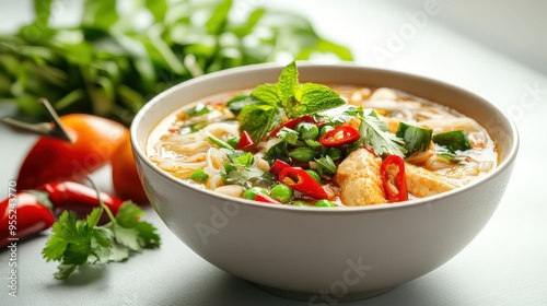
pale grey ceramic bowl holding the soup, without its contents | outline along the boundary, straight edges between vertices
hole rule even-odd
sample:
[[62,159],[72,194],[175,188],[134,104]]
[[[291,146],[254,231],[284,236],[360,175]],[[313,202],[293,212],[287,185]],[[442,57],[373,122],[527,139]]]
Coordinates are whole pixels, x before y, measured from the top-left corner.
[[351,63],[298,63],[300,81],[395,87],[475,118],[501,163],[464,188],[397,204],[319,209],[271,205],[193,188],[144,153],[156,123],[181,106],[223,91],[275,83],[282,67],[248,66],[181,83],[136,116],[131,141],[141,181],[168,228],[218,268],[270,292],[312,303],[379,294],[457,255],[485,226],[511,176],[519,137],[492,104],[434,80]]

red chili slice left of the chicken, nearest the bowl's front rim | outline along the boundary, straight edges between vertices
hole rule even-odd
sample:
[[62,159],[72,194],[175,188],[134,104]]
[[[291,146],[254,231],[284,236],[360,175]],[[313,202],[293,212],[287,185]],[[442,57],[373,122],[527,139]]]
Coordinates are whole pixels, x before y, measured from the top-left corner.
[[301,167],[283,168],[278,175],[279,181],[316,199],[328,199],[328,195],[321,185]]

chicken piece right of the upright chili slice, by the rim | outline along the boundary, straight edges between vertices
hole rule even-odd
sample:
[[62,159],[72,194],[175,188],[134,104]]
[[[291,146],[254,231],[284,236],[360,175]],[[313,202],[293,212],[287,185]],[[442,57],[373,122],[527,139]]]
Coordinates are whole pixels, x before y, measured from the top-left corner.
[[456,186],[446,180],[445,177],[426,168],[405,163],[408,193],[418,198],[424,198],[452,190]]

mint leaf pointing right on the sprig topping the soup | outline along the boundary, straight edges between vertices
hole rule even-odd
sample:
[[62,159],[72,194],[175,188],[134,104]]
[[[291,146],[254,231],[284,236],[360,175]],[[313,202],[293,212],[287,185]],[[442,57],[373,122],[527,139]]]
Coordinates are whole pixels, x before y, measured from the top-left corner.
[[340,94],[328,86],[315,83],[300,85],[296,89],[295,98],[296,106],[289,111],[289,116],[293,118],[321,113],[346,104]]

